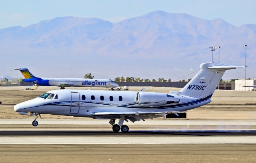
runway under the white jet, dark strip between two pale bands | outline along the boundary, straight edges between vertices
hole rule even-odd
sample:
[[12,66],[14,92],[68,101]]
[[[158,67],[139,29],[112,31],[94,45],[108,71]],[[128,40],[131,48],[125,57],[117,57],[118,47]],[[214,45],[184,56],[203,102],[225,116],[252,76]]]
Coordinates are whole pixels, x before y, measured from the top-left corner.
[[128,123],[128,133],[113,132],[108,120],[38,121],[0,119],[0,144],[256,143],[255,121],[149,120]]

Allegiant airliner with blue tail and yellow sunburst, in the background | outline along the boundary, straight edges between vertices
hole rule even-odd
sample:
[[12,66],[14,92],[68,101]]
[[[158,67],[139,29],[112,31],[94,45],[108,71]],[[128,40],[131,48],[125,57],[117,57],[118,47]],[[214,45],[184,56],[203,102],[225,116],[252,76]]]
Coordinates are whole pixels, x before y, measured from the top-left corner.
[[117,83],[110,79],[84,79],[84,78],[37,78],[31,74],[27,68],[14,69],[20,70],[25,79],[24,82],[30,82],[41,86],[58,86],[60,89],[65,87],[110,87],[115,88]]

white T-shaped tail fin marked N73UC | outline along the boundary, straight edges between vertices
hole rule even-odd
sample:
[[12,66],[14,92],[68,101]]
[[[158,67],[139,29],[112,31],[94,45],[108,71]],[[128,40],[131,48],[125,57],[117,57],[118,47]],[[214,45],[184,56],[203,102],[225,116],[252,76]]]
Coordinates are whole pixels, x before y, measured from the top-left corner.
[[226,70],[246,66],[228,66],[218,63],[204,63],[200,65],[200,71],[181,90],[182,95],[195,98],[210,98],[214,93]]

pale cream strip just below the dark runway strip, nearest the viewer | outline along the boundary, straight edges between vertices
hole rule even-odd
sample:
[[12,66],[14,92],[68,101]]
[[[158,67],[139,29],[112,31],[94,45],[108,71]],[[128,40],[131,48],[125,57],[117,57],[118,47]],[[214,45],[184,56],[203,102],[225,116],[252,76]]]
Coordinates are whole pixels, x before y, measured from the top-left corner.
[[256,144],[256,136],[185,137],[84,137],[84,136],[9,136],[0,144]]

